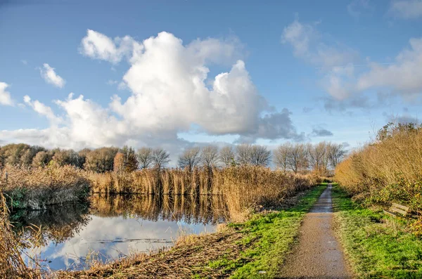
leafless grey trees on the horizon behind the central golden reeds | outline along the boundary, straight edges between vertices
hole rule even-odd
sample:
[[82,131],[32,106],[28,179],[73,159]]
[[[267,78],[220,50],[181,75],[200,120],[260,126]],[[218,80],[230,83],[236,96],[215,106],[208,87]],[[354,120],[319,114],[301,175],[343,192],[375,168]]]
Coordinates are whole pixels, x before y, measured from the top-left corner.
[[[345,156],[343,145],[321,142],[317,144],[284,143],[274,150],[272,161],[283,171],[319,171],[326,174]],[[194,167],[230,167],[234,165],[252,164],[268,166],[271,162],[271,151],[262,145],[241,144],[236,148],[225,146],[221,150],[215,145],[204,148],[194,147],[184,150],[179,156],[178,166],[192,170]]]

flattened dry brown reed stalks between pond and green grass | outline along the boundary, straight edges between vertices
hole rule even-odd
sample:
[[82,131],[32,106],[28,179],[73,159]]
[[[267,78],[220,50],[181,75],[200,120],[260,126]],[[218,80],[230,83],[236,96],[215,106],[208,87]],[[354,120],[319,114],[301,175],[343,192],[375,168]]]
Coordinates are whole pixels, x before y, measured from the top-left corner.
[[236,259],[245,249],[240,241],[241,231],[233,228],[209,235],[181,238],[170,250],[155,254],[136,254],[111,264],[98,264],[87,271],[62,272],[58,278],[224,278],[224,271],[203,269],[207,261],[219,259],[222,254]]

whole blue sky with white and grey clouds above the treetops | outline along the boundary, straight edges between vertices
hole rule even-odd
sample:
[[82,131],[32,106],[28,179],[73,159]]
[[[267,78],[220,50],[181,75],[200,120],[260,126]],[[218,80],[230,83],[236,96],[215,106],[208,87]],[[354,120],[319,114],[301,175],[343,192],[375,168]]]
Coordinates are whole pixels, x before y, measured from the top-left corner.
[[421,0],[0,0],[0,145],[357,148],[421,119],[421,26]]

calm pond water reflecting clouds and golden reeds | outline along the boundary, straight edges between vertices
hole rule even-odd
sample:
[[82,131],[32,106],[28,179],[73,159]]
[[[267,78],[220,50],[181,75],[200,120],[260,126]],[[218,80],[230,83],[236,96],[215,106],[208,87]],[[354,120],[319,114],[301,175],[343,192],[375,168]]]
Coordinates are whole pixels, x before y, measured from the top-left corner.
[[94,195],[89,204],[15,212],[11,219],[25,239],[37,234],[28,226],[41,226],[42,245],[25,250],[28,264],[37,255],[44,268],[76,270],[93,257],[110,261],[170,247],[181,234],[212,233],[225,214],[220,197]]

